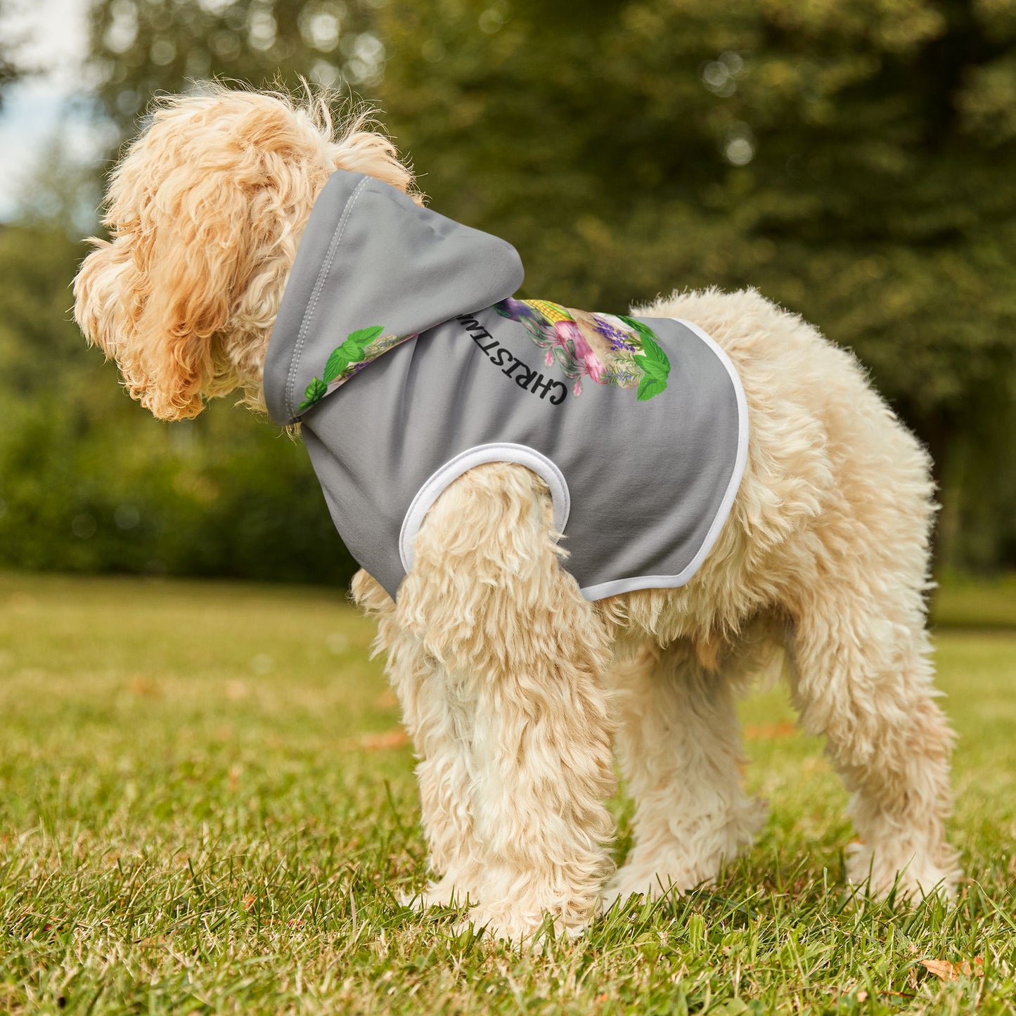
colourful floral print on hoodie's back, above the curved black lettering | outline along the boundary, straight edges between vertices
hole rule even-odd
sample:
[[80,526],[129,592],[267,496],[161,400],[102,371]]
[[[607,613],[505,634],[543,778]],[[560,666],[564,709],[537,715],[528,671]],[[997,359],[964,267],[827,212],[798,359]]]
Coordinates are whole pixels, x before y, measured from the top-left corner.
[[545,350],[544,363],[555,364],[574,380],[574,395],[582,394],[582,379],[617,388],[635,388],[640,401],[666,388],[671,362],[652,329],[634,318],[572,310],[549,300],[509,298],[494,305],[502,317],[518,321]]

